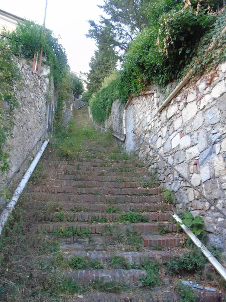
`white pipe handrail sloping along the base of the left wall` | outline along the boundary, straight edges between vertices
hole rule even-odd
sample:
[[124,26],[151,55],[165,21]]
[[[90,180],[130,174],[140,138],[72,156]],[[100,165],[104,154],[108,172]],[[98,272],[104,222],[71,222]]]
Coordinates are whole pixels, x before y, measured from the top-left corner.
[[27,172],[25,173],[24,177],[22,178],[20,184],[18,185],[17,189],[14,192],[14,196],[10,200],[10,202],[7,204],[6,208],[3,210],[1,216],[0,216],[0,235],[2,234],[4,225],[6,224],[10,213],[13,211],[15,205],[17,204],[18,199],[21,196],[21,193],[23,192],[27,182],[29,181],[33,171],[35,170],[35,167],[37,166],[47,144],[49,142],[49,139],[47,139],[39,152],[37,153],[36,157],[34,158],[33,162],[31,163],[30,167],[28,168]]

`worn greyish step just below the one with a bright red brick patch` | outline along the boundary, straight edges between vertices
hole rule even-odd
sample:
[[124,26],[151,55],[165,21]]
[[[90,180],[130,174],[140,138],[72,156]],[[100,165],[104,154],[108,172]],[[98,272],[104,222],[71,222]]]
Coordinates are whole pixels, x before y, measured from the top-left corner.
[[[65,249],[64,256],[68,259],[81,256],[88,260],[89,266],[87,268],[93,268],[91,261],[98,260],[101,264],[104,265],[104,268],[122,268],[122,264],[126,263],[129,265],[142,265],[146,260],[149,261],[161,261],[162,263],[167,263],[172,259],[176,259],[182,254],[174,252],[165,252],[165,251],[147,251],[147,252],[105,252],[105,251],[95,251],[95,252],[76,252],[71,251],[70,249]],[[112,258],[123,257],[119,264],[114,265]],[[137,267],[135,267],[137,268]]]

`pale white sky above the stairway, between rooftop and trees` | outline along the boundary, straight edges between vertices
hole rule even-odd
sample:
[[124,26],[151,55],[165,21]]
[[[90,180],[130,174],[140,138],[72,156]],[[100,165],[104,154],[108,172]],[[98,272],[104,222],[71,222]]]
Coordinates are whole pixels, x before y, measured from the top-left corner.
[[[2,1],[0,9],[19,17],[43,24],[45,0]],[[97,7],[102,0],[48,0],[46,27],[55,36],[60,35],[60,43],[68,55],[73,71],[88,72],[88,62],[95,50],[95,41],[86,38],[89,29],[87,20],[98,20],[102,11]]]

